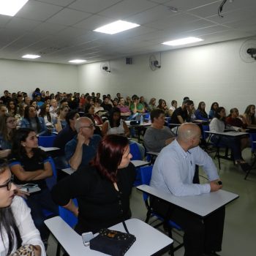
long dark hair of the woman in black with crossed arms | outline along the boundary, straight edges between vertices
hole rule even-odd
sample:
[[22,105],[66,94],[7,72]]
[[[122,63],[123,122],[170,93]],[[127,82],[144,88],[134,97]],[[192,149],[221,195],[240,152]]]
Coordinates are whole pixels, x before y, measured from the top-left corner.
[[[12,137],[12,154],[15,157],[18,157],[18,159],[23,159],[23,157],[26,156],[26,150],[22,146],[22,141],[26,141],[26,138],[28,138],[29,133],[34,132],[34,129],[30,128],[20,128],[15,131]],[[32,152],[34,156],[39,159],[39,161],[42,161],[41,157],[41,149],[40,148],[32,148]]]

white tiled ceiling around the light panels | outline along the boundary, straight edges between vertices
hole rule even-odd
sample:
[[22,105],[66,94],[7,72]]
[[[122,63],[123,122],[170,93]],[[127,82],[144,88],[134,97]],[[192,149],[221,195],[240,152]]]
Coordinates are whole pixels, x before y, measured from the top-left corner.
[[[162,42],[181,37],[204,39],[204,45],[256,35],[256,1],[227,0],[29,0],[15,15],[0,15],[0,59],[22,59],[67,64],[172,50]],[[178,8],[172,12],[170,7]],[[141,26],[119,34],[94,32],[122,19]],[[176,47],[177,48],[177,47]],[[24,60],[24,59],[23,59]]]

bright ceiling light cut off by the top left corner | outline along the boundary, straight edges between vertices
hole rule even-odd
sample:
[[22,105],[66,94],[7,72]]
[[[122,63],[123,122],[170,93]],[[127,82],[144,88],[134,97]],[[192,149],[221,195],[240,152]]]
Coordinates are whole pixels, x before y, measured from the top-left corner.
[[1,0],[0,14],[14,16],[29,0]]

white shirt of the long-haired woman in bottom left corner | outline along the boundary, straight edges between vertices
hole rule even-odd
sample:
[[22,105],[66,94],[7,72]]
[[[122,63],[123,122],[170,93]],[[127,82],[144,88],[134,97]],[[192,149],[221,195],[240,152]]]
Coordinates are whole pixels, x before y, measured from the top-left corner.
[[[42,243],[39,231],[34,226],[34,222],[30,214],[30,208],[26,205],[23,198],[15,196],[12,200],[11,208],[18,226],[18,230],[20,231],[22,245],[39,245],[41,247],[41,256],[45,256],[45,246]],[[3,240],[0,237],[0,256],[6,256],[8,252],[9,241],[7,239],[7,233],[5,232],[5,230],[2,230],[2,236]],[[12,251],[12,253],[15,252],[16,249],[17,248],[15,246],[15,249]]]

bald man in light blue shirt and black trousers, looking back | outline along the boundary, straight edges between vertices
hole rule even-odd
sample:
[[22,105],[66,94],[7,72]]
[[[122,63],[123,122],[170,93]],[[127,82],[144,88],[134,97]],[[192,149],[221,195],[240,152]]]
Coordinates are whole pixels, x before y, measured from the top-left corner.
[[[196,124],[182,124],[177,140],[162,149],[153,167],[151,187],[176,196],[200,195],[222,188],[218,184],[217,168],[211,157],[203,151],[200,129]],[[203,166],[208,184],[192,184],[195,165]],[[154,207],[154,201],[153,207]],[[186,256],[211,256],[222,249],[225,207],[219,208],[205,219],[170,205],[168,218],[184,230]]]

